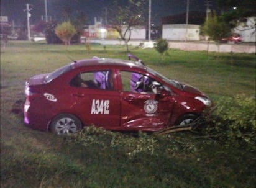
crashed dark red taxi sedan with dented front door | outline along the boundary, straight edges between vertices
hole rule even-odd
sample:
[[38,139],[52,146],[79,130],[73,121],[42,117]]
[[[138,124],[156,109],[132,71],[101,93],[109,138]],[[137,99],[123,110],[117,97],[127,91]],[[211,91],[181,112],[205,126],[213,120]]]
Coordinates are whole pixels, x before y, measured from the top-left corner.
[[193,122],[211,101],[198,89],[132,60],[73,61],[25,85],[24,122],[69,134],[88,125],[158,131]]

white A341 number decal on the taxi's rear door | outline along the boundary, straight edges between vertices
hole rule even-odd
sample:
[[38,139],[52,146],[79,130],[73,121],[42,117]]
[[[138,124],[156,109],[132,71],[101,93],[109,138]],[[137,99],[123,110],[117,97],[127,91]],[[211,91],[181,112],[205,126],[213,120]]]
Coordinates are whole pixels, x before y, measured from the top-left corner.
[[109,114],[109,100],[93,99],[91,114]]

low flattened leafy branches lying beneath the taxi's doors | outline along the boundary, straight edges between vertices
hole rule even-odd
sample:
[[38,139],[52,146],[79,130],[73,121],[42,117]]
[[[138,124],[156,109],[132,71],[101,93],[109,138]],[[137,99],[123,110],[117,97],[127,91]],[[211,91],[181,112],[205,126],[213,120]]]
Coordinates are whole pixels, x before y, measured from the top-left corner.
[[70,138],[83,146],[98,145],[103,150],[107,148],[121,150],[129,158],[139,153],[152,155],[157,148],[157,138],[150,137],[147,133],[139,132],[136,136],[130,137],[94,126],[85,127],[80,132],[71,135]]

